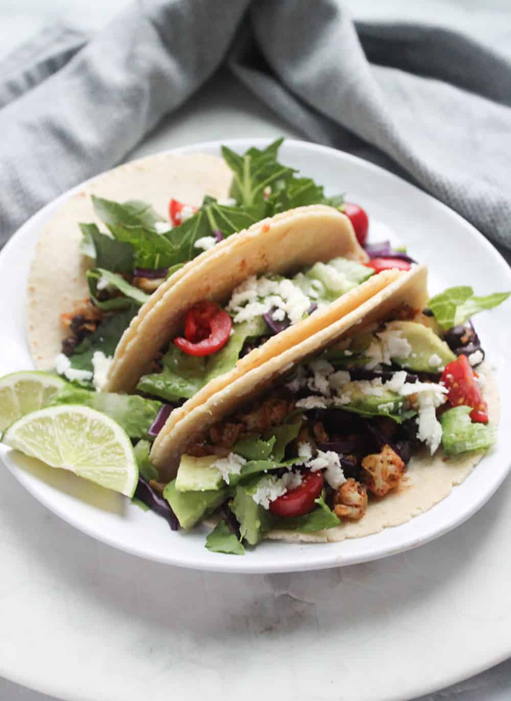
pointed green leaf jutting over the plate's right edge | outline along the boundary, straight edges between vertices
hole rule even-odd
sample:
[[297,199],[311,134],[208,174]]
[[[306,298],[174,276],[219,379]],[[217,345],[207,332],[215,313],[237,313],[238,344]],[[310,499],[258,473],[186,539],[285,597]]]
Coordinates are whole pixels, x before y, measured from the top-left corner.
[[475,297],[472,287],[449,287],[428,301],[428,308],[433,312],[442,329],[450,329],[463,324],[471,316],[484,309],[491,309],[510,296],[510,292],[495,292],[486,297]]

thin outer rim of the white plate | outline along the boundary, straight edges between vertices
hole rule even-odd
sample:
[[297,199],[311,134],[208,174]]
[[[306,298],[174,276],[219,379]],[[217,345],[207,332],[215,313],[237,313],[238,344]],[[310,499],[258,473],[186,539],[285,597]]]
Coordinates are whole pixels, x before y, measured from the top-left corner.
[[[162,151],[158,151],[155,154],[151,154],[149,156],[143,156],[142,158],[137,158],[134,159],[133,161],[127,161],[127,163],[137,163],[138,161],[143,161],[144,159],[147,158],[152,158],[153,156],[162,156],[162,155],[167,155],[167,154],[186,154],[186,153],[196,153],[200,151],[204,151],[206,153],[212,153],[215,152],[218,154],[218,151],[221,147],[221,144],[227,144],[232,148],[237,148],[237,147],[247,147],[249,146],[255,146],[255,147],[262,147],[267,145],[271,139],[265,138],[265,137],[257,137],[257,138],[236,138],[236,139],[225,139],[222,141],[219,140],[209,140],[205,142],[198,142],[197,144],[188,144],[186,146],[182,147],[177,147],[177,148],[172,148],[172,149],[164,149]],[[359,158],[358,156],[353,156],[353,154],[347,154],[345,151],[342,151],[340,149],[335,149],[332,147],[328,146],[323,146],[322,144],[314,144],[314,142],[307,142],[304,140],[300,139],[285,139],[284,144],[286,147],[291,148],[291,149],[297,149],[300,151],[307,151],[307,150],[313,150],[316,153],[325,152],[328,154],[331,154],[335,156],[335,158],[341,158],[347,163],[353,163],[357,165],[358,167],[363,167],[366,168],[378,175],[378,177],[384,177],[389,179],[391,182],[398,182],[400,186],[402,184],[405,184],[408,188],[412,188],[416,193],[419,193],[419,196],[421,198],[426,198],[429,200],[431,203],[434,203],[433,206],[438,207],[440,205],[440,208],[444,210],[444,212],[447,212],[449,216],[453,216],[458,219],[461,224],[465,227],[465,229],[468,227],[470,229],[471,235],[476,236],[478,238],[479,243],[483,243],[484,247],[486,248],[486,251],[488,252],[489,256],[493,258],[493,264],[495,264],[498,267],[503,268],[503,273],[507,276],[509,282],[511,283],[511,269],[507,265],[507,262],[503,258],[503,256],[496,250],[496,248],[489,242],[489,240],[482,235],[481,232],[477,231],[475,226],[470,224],[470,222],[467,222],[461,215],[459,215],[457,212],[452,210],[450,207],[445,205],[444,203],[440,202],[440,200],[437,200],[433,196],[431,196],[429,193],[426,193],[425,191],[421,190],[418,186],[407,182],[406,180],[402,179],[398,175],[395,175],[392,172],[389,172],[388,170],[385,170],[384,168],[381,168],[381,166],[376,165],[374,163],[371,163],[370,161],[365,161],[363,158]],[[120,167],[122,168],[122,164]],[[104,172],[110,172],[110,170],[115,170],[109,169]],[[81,182],[80,184],[74,186],[73,188],[69,189],[68,191],[62,193],[59,195],[57,198],[52,200],[50,203],[44,205],[44,207],[41,207],[38,212],[36,212],[34,215],[29,217],[27,219],[27,222],[22,224],[20,226],[20,229],[16,231],[13,236],[8,240],[6,245],[3,247],[3,250],[0,252],[0,265],[3,262],[4,257],[6,256],[7,252],[10,252],[11,247],[15,246],[20,239],[22,239],[23,236],[25,236],[25,232],[32,229],[34,226],[38,226],[38,223],[41,219],[45,217],[45,215],[48,214],[48,212],[51,212],[54,209],[57,209],[61,203],[66,201],[68,198],[73,196],[76,191],[79,191],[82,189],[84,186],[89,184],[90,182],[93,182],[95,179],[98,177],[101,177],[104,172],[99,173],[97,175],[94,175],[93,177]],[[32,248],[30,249],[31,251],[33,250]],[[26,339],[24,339],[26,340]],[[498,489],[500,484],[502,484],[503,480],[507,476],[508,472],[511,469],[511,460],[509,464],[507,465],[507,468],[503,470],[501,473],[499,473],[498,479],[494,480],[491,489],[487,490],[484,492],[482,496],[477,498],[477,500],[472,501],[470,505],[467,508],[464,508],[462,510],[457,510],[454,517],[451,517],[451,519],[447,519],[447,521],[442,522],[440,526],[437,526],[435,529],[430,529],[428,531],[426,536],[421,536],[421,538],[417,538],[416,536],[414,537],[412,534],[410,534],[407,538],[403,538],[400,542],[400,544],[397,547],[391,547],[387,546],[384,548],[379,547],[378,544],[376,544],[374,547],[369,547],[367,549],[367,552],[364,554],[335,554],[332,552],[333,550],[337,549],[339,550],[342,547],[342,543],[314,543],[314,544],[307,544],[307,543],[295,543],[292,544],[293,548],[295,548],[297,551],[300,550],[309,550],[311,547],[312,548],[318,548],[316,552],[321,552],[321,550],[327,550],[328,549],[328,554],[326,554],[324,557],[319,557],[317,559],[308,560],[307,557],[300,557],[300,554],[297,552],[297,556],[295,557],[295,562],[283,562],[281,566],[278,564],[272,564],[272,565],[265,565],[265,564],[258,564],[258,562],[255,560],[257,558],[257,553],[256,552],[250,552],[249,557],[244,557],[244,558],[232,558],[229,557],[228,555],[219,555],[217,554],[217,557],[214,559],[202,559],[200,557],[188,557],[186,560],[183,560],[183,556],[181,553],[176,555],[176,557],[173,556],[172,551],[169,553],[165,554],[164,556],[158,556],[157,554],[151,553],[151,552],[144,552],[144,550],[141,550],[139,547],[131,546],[130,544],[125,544],[125,543],[119,543],[116,538],[111,538],[108,535],[105,535],[104,533],[99,533],[97,530],[94,530],[94,528],[89,527],[89,524],[83,524],[82,521],[80,521],[78,518],[74,519],[73,514],[69,514],[65,512],[65,510],[59,509],[58,504],[55,505],[52,503],[50,499],[45,498],[45,496],[41,496],[41,494],[38,493],[37,491],[37,482],[34,482],[34,478],[29,475],[29,473],[25,472],[22,468],[19,466],[15,465],[13,463],[12,459],[8,456],[10,451],[6,450],[6,447],[1,447],[1,452],[0,455],[3,456],[3,461],[6,464],[7,468],[10,470],[10,472],[13,474],[15,479],[24,486],[27,491],[29,491],[29,494],[33,496],[34,498],[37,499],[40,503],[42,503],[45,508],[48,508],[51,512],[55,513],[59,518],[63,519],[65,522],[69,523],[73,528],[78,529],[79,531],[86,533],[87,536],[90,536],[92,538],[95,538],[97,540],[100,540],[102,543],[106,543],[107,545],[111,547],[116,547],[118,550],[123,550],[124,552],[127,552],[129,554],[136,555],[137,557],[142,557],[144,559],[151,559],[154,560],[155,562],[161,562],[163,564],[170,564],[172,566],[181,566],[187,569],[199,569],[202,571],[218,571],[218,572],[228,572],[228,573],[278,573],[278,572],[288,572],[288,571],[313,571],[313,570],[318,570],[318,569],[328,569],[331,567],[337,567],[337,566],[346,566],[346,565],[351,565],[351,564],[357,564],[361,562],[370,562],[372,560],[376,559],[381,559],[384,557],[391,557],[393,554],[398,554],[400,552],[404,552],[405,550],[409,550],[414,547],[418,547],[419,545],[423,545],[425,543],[429,543],[431,540],[434,540],[435,538],[439,538],[440,536],[444,535],[444,533],[447,533],[457,526],[461,525],[465,520],[467,520],[471,515],[473,515],[479,508],[482,508],[484,503],[491,498],[491,496],[495,493],[495,491]],[[483,458],[484,459],[484,458]],[[466,479],[470,479],[470,475]],[[466,480],[465,480],[466,482]],[[461,487],[462,485],[457,485]],[[456,489],[456,487],[454,487]],[[449,498],[450,494],[445,498]],[[441,500],[439,504],[445,501],[445,499]],[[435,509],[437,505],[434,505],[428,512],[431,510]],[[411,519],[413,520],[413,519]],[[401,524],[401,526],[392,526],[392,529],[400,529],[402,526],[406,526],[407,523]],[[390,528],[384,529],[384,531],[388,531]],[[374,538],[375,536],[378,536],[379,533],[374,533],[370,536],[365,536],[363,539],[360,540],[367,540]],[[346,541],[342,541],[346,542]],[[290,545],[285,542],[281,543],[281,545]],[[321,549],[321,550],[320,550]],[[240,561],[243,562],[240,562]]]

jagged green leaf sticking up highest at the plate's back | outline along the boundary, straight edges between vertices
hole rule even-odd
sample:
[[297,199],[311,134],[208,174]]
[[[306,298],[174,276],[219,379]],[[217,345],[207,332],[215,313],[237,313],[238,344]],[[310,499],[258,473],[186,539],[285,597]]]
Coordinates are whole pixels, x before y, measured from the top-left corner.
[[293,168],[281,165],[276,160],[282,142],[283,139],[277,139],[263,151],[248,149],[243,156],[228,147],[222,147],[222,156],[233,173],[230,196],[257,219],[262,219],[267,214],[265,188],[279,182],[279,189],[283,189],[283,183],[295,172]]

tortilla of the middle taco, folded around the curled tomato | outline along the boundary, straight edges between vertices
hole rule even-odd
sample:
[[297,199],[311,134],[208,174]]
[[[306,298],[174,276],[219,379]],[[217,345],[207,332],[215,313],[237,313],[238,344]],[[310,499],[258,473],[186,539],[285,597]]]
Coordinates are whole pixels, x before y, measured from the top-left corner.
[[[294,272],[337,256],[359,262],[368,259],[349,219],[324,205],[281,212],[225,239],[162,283],[141,307],[118,343],[105,391],[133,391],[141,376],[150,371],[158,351],[179,335],[186,312],[193,304],[204,299],[227,301],[232,290],[250,275]],[[365,283],[358,287],[362,297],[364,289]],[[356,295],[349,299],[353,300],[351,308],[359,304]],[[314,333],[320,320],[323,325],[329,323],[324,313],[316,312],[276,336],[271,351],[268,343],[255,349],[239,362],[241,372]],[[219,377],[216,391],[229,382],[229,373]],[[211,394],[209,384],[204,392]]]

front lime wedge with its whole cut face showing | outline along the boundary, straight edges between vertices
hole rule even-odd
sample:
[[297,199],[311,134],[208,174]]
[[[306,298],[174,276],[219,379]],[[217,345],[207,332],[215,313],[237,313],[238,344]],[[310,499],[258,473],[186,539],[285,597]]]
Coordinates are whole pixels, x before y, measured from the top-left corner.
[[3,443],[52,468],[71,470],[106,489],[133,496],[139,479],[127,433],[106,414],[76,404],[33,411],[15,421]]

